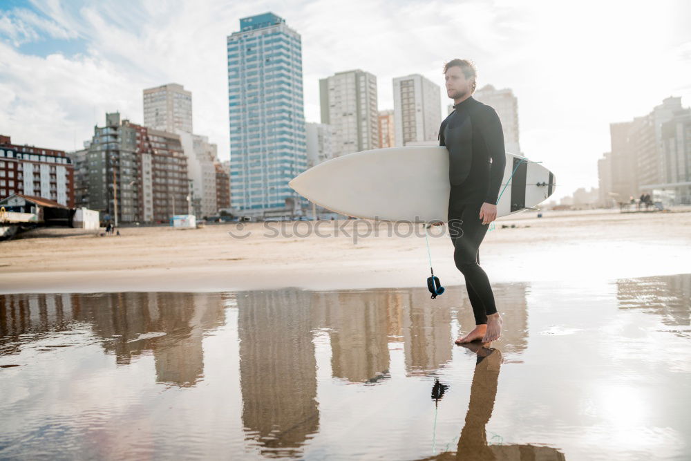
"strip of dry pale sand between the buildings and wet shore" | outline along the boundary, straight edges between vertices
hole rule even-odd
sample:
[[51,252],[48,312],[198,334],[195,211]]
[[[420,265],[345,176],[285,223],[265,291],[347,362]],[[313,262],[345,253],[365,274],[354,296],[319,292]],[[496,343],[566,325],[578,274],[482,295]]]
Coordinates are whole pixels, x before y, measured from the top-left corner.
[[[691,212],[542,214],[495,221],[480,250],[491,281],[689,272]],[[374,229],[365,220],[123,227],[120,236],[39,229],[0,243],[0,292],[423,286],[429,263],[422,226],[379,223]],[[435,232],[442,233],[428,239],[435,275],[444,285],[462,285],[446,227]]]

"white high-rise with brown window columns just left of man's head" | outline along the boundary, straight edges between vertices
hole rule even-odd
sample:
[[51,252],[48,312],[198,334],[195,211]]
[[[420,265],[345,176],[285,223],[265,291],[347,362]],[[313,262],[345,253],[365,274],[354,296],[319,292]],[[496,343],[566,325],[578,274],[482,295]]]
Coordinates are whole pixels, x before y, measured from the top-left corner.
[[437,141],[442,124],[439,85],[422,75],[393,79],[394,129],[396,146]]

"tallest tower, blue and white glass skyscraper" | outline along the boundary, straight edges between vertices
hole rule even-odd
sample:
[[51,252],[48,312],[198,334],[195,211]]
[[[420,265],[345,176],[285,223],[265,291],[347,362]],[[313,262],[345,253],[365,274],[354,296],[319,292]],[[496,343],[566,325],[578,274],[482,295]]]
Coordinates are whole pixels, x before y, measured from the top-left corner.
[[306,206],[288,182],[307,169],[300,35],[271,12],[228,39],[231,207],[246,216]]

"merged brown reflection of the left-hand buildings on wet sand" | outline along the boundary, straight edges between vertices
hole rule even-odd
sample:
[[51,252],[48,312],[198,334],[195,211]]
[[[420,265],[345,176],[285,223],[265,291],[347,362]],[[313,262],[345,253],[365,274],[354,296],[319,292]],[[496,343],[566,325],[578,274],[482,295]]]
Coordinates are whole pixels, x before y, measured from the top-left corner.
[[[156,381],[176,386],[192,386],[202,377],[202,337],[225,319],[218,294],[10,294],[0,297],[0,312],[0,337],[33,333],[35,341],[87,323],[117,364],[152,351]],[[21,348],[14,344],[0,353]]]

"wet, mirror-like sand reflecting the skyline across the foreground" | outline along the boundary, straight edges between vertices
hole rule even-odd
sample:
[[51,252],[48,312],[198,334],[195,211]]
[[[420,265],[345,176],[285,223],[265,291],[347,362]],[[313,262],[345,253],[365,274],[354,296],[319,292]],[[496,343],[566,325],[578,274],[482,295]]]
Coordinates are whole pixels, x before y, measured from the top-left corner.
[[691,457],[691,274],[0,296],[0,458]]

